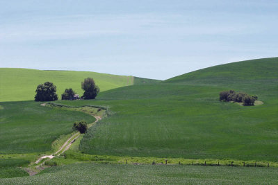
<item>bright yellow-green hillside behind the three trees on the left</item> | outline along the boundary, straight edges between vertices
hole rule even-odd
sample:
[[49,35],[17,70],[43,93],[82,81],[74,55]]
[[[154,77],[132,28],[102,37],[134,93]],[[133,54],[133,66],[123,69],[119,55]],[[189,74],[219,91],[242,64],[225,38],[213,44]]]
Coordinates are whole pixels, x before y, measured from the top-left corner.
[[35,69],[0,68],[0,101],[33,100],[36,87],[46,81],[54,82],[60,98],[72,87],[82,95],[81,81],[94,78],[101,91],[133,85],[133,76],[117,76],[86,71],[41,71]]

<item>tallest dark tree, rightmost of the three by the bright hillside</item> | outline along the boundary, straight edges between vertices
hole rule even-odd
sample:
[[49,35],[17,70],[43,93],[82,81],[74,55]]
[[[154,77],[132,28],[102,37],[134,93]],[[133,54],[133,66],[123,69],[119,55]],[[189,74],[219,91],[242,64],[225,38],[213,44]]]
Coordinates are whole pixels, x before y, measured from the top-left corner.
[[99,94],[99,87],[95,85],[95,81],[92,78],[84,79],[84,82],[81,82],[81,88],[84,90],[84,99],[95,99],[97,94]]

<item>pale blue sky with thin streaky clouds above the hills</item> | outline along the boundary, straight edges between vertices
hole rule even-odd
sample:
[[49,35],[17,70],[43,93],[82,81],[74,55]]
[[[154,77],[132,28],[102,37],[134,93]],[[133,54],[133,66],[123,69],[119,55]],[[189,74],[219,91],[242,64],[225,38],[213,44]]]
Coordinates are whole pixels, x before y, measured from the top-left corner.
[[0,67],[165,80],[277,56],[277,0],[0,0]]

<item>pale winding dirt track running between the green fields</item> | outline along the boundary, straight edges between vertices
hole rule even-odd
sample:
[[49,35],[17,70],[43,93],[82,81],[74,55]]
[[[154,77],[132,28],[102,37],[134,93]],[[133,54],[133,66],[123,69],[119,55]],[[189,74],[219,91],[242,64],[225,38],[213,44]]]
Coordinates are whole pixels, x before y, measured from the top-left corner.
[[[94,115],[92,115],[92,116],[94,116]],[[100,117],[100,116],[94,116],[94,117],[96,118],[96,121],[95,121],[94,123],[90,124],[89,127],[91,127],[92,125],[94,125],[95,123],[97,123],[97,121],[101,120],[101,117]],[[79,138],[79,136],[80,136],[80,133],[77,132],[76,134],[74,134],[73,136],[71,136],[69,139],[67,139],[67,141],[65,141],[65,143],[63,144],[63,146],[61,146],[57,152],[55,152],[55,153],[52,154],[52,155],[44,155],[44,156],[40,157],[37,161],[35,161],[35,164],[39,164],[40,161],[42,161],[42,159],[46,159],[46,158],[53,159],[54,157],[63,154],[66,150],[68,150],[68,149],[70,148],[70,146],[72,146],[72,143],[74,143],[74,141],[75,141],[77,138]],[[69,142],[70,142],[70,143],[69,143]],[[62,151],[62,150],[63,150],[63,152],[60,152],[60,151]],[[59,152],[60,152],[60,154],[58,154]],[[57,155],[57,154],[58,154],[58,155]]]

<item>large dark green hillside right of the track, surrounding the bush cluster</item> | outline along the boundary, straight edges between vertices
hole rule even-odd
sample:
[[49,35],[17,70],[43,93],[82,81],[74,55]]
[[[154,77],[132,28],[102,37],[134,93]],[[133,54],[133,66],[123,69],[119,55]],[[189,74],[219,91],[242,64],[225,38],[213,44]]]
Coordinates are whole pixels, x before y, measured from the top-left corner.
[[[225,72],[243,69],[246,63],[256,71]],[[105,91],[97,100],[60,103],[111,107],[113,116],[97,123],[81,141],[80,149],[92,155],[278,161],[277,64],[277,58],[236,62],[205,69],[206,82],[191,82],[195,78],[184,75]],[[213,73],[222,73],[220,80]],[[257,94],[264,104],[222,103],[218,95],[225,89]]]

